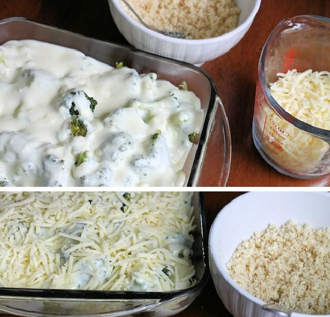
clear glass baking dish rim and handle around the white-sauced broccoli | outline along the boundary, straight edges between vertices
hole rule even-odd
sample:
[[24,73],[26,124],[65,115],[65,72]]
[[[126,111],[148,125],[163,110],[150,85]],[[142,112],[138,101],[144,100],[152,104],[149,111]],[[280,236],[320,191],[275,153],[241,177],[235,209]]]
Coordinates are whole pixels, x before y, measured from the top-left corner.
[[[184,186],[197,186],[207,144],[211,133],[214,134],[217,148],[217,166],[220,167],[219,186],[225,186],[230,169],[231,139],[227,116],[223,104],[211,78],[200,68],[193,65],[145,53],[127,46],[104,42],[81,34],[58,29],[25,18],[8,18],[0,21],[0,45],[11,39],[35,39],[63,47],[79,50],[97,60],[116,65],[135,68],[139,73],[155,72],[157,78],[170,81],[178,86],[186,81],[189,90],[201,99],[204,109],[203,128],[199,142],[193,144],[183,172],[186,175]],[[217,129],[213,129],[215,124]]]

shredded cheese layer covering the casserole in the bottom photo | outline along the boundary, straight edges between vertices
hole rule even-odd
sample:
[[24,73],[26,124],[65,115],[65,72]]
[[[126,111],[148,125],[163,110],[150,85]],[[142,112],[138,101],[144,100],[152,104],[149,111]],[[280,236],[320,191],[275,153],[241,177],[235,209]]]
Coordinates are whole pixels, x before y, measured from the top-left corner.
[[170,291],[194,284],[189,192],[0,194],[0,286]]

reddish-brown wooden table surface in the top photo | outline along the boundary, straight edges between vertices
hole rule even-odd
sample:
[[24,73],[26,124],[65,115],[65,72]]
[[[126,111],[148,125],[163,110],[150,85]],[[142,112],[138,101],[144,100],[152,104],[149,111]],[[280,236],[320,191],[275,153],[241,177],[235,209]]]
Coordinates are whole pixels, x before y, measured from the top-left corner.
[[[252,141],[255,83],[261,49],[278,22],[301,14],[330,17],[330,0],[262,0],[251,28],[240,43],[202,66],[217,87],[232,134],[232,166],[227,186],[330,185],[330,176],[299,180],[278,173],[263,161]],[[128,45],[112,20],[107,0],[2,0],[0,19],[13,16]],[[200,186],[218,186],[217,164],[214,148],[209,147]]]

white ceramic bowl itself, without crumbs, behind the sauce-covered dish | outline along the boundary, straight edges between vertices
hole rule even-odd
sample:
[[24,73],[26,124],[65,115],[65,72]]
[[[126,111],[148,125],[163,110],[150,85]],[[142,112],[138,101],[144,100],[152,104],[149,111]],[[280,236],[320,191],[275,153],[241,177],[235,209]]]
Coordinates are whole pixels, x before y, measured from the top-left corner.
[[108,2],[119,31],[135,48],[201,65],[225,54],[242,39],[259,10],[261,0],[236,0],[236,5],[241,9],[239,25],[223,35],[206,39],[181,39],[162,35],[131,18],[120,5],[120,0]]

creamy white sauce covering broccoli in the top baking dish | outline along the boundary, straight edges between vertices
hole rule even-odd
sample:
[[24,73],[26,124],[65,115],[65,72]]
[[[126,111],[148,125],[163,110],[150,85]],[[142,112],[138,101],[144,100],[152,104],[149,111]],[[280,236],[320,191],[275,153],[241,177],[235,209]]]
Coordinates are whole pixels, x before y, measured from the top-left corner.
[[203,116],[155,73],[34,40],[0,46],[2,186],[182,186]]

